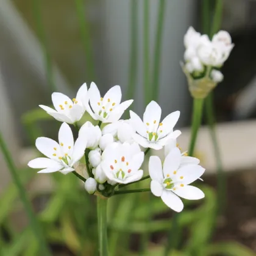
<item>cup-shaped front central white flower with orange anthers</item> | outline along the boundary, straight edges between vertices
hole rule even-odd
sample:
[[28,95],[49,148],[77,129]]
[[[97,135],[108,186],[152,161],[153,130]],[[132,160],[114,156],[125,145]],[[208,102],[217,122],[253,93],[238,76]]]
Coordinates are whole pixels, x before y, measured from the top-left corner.
[[140,180],[143,170],[140,166],[144,160],[137,143],[112,143],[102,153],[104,160],[101,167],[108,180],[117,183],[130,183]]

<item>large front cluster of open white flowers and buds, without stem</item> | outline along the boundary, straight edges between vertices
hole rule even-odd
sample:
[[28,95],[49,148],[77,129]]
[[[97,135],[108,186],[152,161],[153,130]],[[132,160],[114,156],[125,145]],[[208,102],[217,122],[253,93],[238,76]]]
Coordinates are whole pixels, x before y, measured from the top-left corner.
[[[205,169],[199,165],[197,158],[188,157],[176,145],[176,138],[181,132],[174,130],[174,126],[180,112],[172,112],[161,121],[162,110],[157,102],[151,101],[143,119],[130,111],[130,119],[120,120],[133,100],[120,102],[121,89],[118,85],[110,88],[103,98],[94,83],[91,83],[89,90],[83,84],[73,100],[62,93],[52,93],[55,110],[44,105],[40,107],[63,122],[59,142],[37,138],[35,146],[45,157],[31,160],[28,165],[44,173],[74,172],[80,178],[82,174],[88,193],[109,197],[121,189],[122,184],[143,178],[141,166],[149,149],[162,150],[165,152],[163,166],[159,157],[149,158],[152,193],[160,196],[168,207],[177,212],[183,209],[179,197],[204,197],[199,188],[189,184],[200,179]],[[77,121],[85,111],[98,124],[87,121],[79,129]],[[68,124],[74,124],[79,129],[76,141]],[[142,151],[141,148],[145,149]]]

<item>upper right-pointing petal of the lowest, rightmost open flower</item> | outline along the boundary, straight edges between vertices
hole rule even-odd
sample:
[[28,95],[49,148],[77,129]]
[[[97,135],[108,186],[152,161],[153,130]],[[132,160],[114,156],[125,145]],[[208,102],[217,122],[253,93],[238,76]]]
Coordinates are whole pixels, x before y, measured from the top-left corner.
[[199,179],[204,171],[205,169],[200,165],[184,165],[179,169],[177,175],[183,177],[180,182],[187,185]]

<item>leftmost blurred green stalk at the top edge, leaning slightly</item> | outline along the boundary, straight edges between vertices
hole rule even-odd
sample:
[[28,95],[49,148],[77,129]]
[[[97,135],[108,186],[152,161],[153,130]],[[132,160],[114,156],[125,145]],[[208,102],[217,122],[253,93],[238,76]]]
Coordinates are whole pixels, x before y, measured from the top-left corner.
[[46,35],[44,33],[44,28],[43,28],[40,0],[33,0],[33,12],[34,12],[35,24],[37,27],[37,34],[41,42],[41,47],[43,49],[46,77],[48,80],[49,89],[51,92],[53,92],[53,91],[56,91],[56,86],[54,84],[54,77],[52,72],[51,55],[46,43]]

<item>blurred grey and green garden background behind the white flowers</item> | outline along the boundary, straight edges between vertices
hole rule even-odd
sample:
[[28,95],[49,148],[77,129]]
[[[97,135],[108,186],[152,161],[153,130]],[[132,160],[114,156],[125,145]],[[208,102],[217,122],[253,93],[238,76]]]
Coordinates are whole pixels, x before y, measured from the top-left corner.
[[[177,218],[149,194],[111,198],[109,251],[256,255],[255,13],[255,0],[0,1],[1,134],[52,255],[98,255],[96,198],[72,175],[27,168],[38,155],[35,138],[56,139],[60,127],[38,105],[51,105],[53,91],[73,98],[94,81],[102,94],[120,85],[142,115],[154,91],[163,116],[180,110],[179,143],[187,150],[192,99],[180,68],[183,36],[189,26],[210,34],[213,23],[230,33],[235,48],[212,95],[217,124],[209,129],[206,112],[196,145],[207,169],[199,183],[205,199],[185,201]],[[39,255],[2,154],[0,164],[0,255]]]

